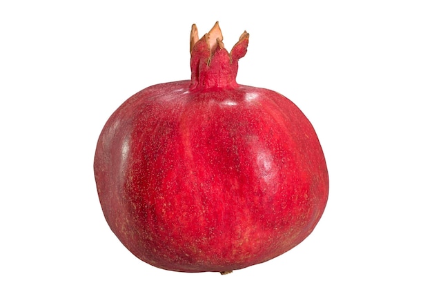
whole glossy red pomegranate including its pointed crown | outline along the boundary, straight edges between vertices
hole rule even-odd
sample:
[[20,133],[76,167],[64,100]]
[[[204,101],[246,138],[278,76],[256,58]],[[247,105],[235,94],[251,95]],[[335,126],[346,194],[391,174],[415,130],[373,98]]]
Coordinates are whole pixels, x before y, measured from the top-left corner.
[[266,262],[315,228],[328,197],[311,123],[272,90],[239,85],[218,23],[190,35],[191,79],[150,86],[106,122],[95,179],[106,221],[136,257],[181,272]]

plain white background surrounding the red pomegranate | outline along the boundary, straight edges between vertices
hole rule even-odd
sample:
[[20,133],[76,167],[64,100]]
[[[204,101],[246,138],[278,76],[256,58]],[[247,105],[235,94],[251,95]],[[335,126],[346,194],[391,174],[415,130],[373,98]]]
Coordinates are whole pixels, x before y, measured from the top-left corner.
[[[1,295],[432,295],[430,1],[1,1]],[[110,114],[189,79],[215,21],[237,81],[315,126],[331,181],[315,231],[219,273],[139,261],[110,231],[92,160]]]

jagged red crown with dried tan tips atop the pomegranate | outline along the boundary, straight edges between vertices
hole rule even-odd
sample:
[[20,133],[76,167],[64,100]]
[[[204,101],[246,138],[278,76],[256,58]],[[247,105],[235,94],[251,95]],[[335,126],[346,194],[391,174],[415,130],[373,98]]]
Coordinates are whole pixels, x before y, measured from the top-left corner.
[[237,88],[235,81],[239,59],[246,55],[249,34],[244,31],[231,52],[222,43],[219,22],[199,39],[195,23],[190,32],[190,90],[210,88]]

